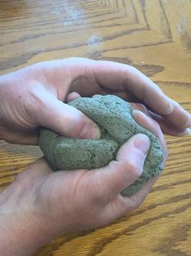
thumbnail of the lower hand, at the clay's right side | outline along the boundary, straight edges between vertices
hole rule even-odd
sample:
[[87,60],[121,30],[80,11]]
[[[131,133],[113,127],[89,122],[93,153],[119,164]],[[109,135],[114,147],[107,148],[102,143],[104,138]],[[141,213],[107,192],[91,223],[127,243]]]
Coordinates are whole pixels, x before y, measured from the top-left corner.
[[146,135],[137,134],[134,137],[133,146],[146,155],[150,149],[150,139]]

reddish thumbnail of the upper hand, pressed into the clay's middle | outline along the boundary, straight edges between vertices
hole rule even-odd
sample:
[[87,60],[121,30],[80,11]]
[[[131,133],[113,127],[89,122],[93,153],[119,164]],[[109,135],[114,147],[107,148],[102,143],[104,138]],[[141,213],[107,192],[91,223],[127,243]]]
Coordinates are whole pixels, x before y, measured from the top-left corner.
[[83,139],[99,139],[100,137],[101,132],[98,126],[93,122],[87,123],[80,134],[80,138]]

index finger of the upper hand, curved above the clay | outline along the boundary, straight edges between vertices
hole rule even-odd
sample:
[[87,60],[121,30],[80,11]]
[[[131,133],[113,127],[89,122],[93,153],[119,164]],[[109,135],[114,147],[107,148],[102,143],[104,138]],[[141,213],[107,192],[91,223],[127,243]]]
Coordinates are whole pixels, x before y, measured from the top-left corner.
[[99,85],[113,91],[130,91],[156,113],[168,115],[174,105],[159,87],[136,68],[110,61],[95,61],[89,65]]

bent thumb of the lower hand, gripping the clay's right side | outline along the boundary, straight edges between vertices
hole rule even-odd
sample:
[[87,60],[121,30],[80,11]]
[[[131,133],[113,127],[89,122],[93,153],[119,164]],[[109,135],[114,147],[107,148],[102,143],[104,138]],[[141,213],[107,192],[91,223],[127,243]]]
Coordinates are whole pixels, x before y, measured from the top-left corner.
[[134,135],[119,148],[116,161],[105,168],[89,172],[95,198],[103,203],[111,201],[119,192],[136,181],[142,174],[150,139],[146,135]]

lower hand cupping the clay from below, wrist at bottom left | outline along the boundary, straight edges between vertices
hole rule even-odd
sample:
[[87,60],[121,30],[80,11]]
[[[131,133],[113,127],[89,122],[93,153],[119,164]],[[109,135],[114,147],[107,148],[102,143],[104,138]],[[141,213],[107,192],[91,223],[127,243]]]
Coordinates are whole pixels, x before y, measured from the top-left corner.
[[[167,146],[157,122],[139,110],[132,113],[162,143],[164,165]],[[101,169],[53,173],[43,158],[28,166],[0,195],[2,255],[31,255],[56,236],[100,227],[137,208],[157,177],[135,196],[119,192],[141,175],[149,148],[145,135],[135,135],[119,148],[116,161]]]

